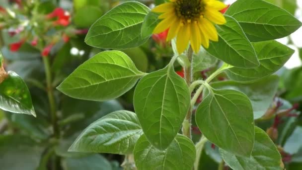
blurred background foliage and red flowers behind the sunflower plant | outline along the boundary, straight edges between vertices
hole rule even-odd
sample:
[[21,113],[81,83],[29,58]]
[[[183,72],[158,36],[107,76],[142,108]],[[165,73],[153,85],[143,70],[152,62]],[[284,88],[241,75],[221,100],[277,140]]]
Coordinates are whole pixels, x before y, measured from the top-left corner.
[[[140,0],[149,7],[163,0]],[[230,4],[234,0],[227,0]],[[301,0],[267,0],[275,3],[302,19]],[[300,1],[300,2],[299,2]],[[85,44],[89,27],[112,7],[122,3],[118,0],[1,0],[0,1],[0,47],[6,71],[14,71],[28,86],[34,112],[37,117],[12,114],[0,110],[0,165],[3,170],[119,170],[124,158],[113,154],[83,154],[67,152],[79,133],[93,121],[120,109],[133,109],[133,92],[128,91],[117,100],[105,102],[70,98],[56,90],[77,66],[89,57],[104,51]],[[224,11],[222,11],[224,12]],[[165,41],[167,31],[152,35],[144,45],[122,50],[142,72],[163,68],[173,55],[171,44]],[[267,131],[276,143],[288,170],[302,169],[302,30],[279,40],[291,45],[296,54],[275,78],[265,78],[251,84],[246,93],[260,101],[262,93],[270,93],[270,108],[257,119],[259,127]],[[106,49],[110,50],[110,49]],[[299,58],[300,52],[300,58]],[[220,66],[218,60],[201,50],[194,58],[194,75],[206,79]],[[300,63],[300,64],[299,64]],[[177,74],[183,70],[176,65]],[[216,81],[226,81],[222,74]],[[278,84],[278,90],[275,89]],[[215,86],[215,85],[214,85]],[[0,86],[1,87],[1,86]],[[219,87],[217,87],[219,88]],[[239,87],[238,87],[239,88]],[[3,88],[4,89],[4,88]],[[0,89],[0,103],[3,103]],[[261,90],[259,90],[261,89]],[[240,90],[240,89],[239,89]],[[242,90],[242,89],[241,89]],[[243,89],[244,90],[244,89]],[[5,94],[7,95],[7,94]],[[199,98],[199,102],[202,96]],[[260,103],[261,104],[261,103]],[[267,105],[264,104],[264,105]],[[5,110],[5,109],[4,109]],[[192,129],[194,139],[201,132]],[[127,161],[127,159],[126,159]],[[129,160],[128,160],[129,161]],[[131,161],[130,161],[131,162]],[[207,142],[200,157],[200,170],[228,169],[218,148]],[[131,169],[128,162],[125,169]]]

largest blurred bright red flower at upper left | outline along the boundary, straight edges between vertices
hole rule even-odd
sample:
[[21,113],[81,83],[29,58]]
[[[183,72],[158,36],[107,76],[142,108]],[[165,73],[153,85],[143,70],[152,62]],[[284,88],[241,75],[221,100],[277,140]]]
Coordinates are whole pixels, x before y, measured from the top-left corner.
[[51,13],[46,15],[46,18],[52,19],[57,17],[58,19],[54,21],[54,25],[62,25],[62,26],[68,26],[70,23],[70,15],[67,11],[65,11],[61,7],[57,7],[54,9]]

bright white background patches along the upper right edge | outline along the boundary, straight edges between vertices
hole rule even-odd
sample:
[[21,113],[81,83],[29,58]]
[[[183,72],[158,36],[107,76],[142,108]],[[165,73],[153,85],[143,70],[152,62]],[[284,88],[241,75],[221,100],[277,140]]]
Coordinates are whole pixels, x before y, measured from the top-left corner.
[[[225,0],[226,4],[231,4],[236,0]],[[296,11],[296,17],[302,21],[302,0],[297,0],[297,4],[299,8]],[[292,69],[295,67],[302,66],[302,61],[299,57],[299,50],[298,48],[302,48],[302,27],[294,32],[290,38],[294,42],[295,45],[289,45],[289,37],[278,39],[277,41],[281,42],[282,44],[288,45],[292,49],[295,50],[295,54],[290,58],[290,60],[285,64],[285,67],[288,69]]]

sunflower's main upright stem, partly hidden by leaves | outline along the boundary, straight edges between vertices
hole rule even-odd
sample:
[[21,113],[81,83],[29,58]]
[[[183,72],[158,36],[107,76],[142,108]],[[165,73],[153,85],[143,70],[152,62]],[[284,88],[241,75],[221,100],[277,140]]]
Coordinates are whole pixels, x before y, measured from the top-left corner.
[[[193,49],[190,46],[188,52],[187,52],[187,57],[188,60],[190,62],[190,65],[188,65],[187,67],[184,68],[184,72],[185,72],[185,81],[188,85],[188,87],[191,85],[192,82],[192,58],[193,58]],[[191,119],[192,119],[192,108],[190,107],[186,118],[184,120],[184,122],[182,123],[182,134],[185,135],[186,137],[188,137],[189,139],[191,139]]]

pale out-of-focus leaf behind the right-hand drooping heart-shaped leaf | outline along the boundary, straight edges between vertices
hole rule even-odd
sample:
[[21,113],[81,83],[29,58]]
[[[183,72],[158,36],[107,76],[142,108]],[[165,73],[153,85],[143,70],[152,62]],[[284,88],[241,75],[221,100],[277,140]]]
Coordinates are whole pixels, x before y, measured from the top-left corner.
[[278,76],[270,76],[255,83],[240,84],[234,81],[223,81],[211,84],[215,89],[234,89],[247,95],[254,111],[254,119],[262,117],[276,95],[279,83]]

